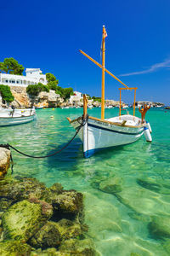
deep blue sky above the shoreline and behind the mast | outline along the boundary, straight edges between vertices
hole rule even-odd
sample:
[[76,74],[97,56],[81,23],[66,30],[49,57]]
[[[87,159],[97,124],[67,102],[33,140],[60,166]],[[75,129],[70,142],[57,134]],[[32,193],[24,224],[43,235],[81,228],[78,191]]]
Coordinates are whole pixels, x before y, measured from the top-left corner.
[[[0,61],[14,57],[24,67],[54,73],[59,85],[100,96],[102,26],[105,67],[128,86],[137,100],[170,103],[170,1],[1,0]],[[121,84],[105,75],[105,98],[117,100]],[[133,94],[123,92],[132,102]]]

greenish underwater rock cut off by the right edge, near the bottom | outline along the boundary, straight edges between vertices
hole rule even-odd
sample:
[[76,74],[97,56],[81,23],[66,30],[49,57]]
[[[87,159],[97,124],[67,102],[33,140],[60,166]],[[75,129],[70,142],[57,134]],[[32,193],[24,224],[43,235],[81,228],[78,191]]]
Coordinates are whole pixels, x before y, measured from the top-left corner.
[[148,225],[150,234],[158,238],[170,237],[170,216],[154,216]]

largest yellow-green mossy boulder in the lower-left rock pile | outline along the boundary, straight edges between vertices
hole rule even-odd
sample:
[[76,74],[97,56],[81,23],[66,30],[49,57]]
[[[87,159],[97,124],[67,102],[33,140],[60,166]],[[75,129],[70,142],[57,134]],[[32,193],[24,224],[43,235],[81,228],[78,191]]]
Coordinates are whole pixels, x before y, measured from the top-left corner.
[[17,202],[3,213],[4,238],[27,241],[45,224],[52,212],[42,213],[42,206],[30,201]]

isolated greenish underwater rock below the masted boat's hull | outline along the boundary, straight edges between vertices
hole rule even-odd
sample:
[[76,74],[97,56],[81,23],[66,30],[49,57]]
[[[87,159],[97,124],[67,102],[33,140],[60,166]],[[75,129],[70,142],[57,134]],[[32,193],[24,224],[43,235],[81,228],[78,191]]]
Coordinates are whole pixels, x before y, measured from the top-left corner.
[[111,177],[99,183],[99,189],[110,194],[122,191],[122,177]]

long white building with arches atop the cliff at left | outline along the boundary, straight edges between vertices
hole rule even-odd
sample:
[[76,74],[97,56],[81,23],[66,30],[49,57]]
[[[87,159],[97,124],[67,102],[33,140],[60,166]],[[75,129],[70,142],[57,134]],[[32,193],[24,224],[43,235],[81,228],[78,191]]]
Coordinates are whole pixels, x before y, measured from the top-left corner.
[[29,84],[48,84],[40,68],[26,68],[26,76],[0,73],[0,84],[26,87]]

